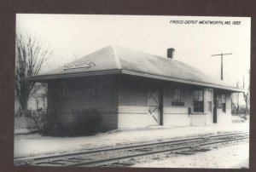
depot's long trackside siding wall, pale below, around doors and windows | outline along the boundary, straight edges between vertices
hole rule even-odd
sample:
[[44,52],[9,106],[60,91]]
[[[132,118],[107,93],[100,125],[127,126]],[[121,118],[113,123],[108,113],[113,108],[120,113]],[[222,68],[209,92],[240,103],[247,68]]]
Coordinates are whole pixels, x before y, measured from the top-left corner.
[[[129,80],[130,79],[130,80]],[[213,123],[213,89],[197,88],[178,83],[157,83],[152,81],[125,78],[119,85],[119,128],[137,128],[154,125],[154,119],[148,115],[147,94],[148,89],[163,89],[163,124],[172,126],[207,125]],[[174,89],[181,89],[182,102],[184,106],[173,106]],[[204,92],[204,112],[194,112],[193,93],[195,89],[202,89]],[[212,112],[208,111],[207,91],[212,90]],[[218,123],[230,122],[230,95],[226,95],[226,113],[218,111]],[[189,114],[189,107],[192,114]]]

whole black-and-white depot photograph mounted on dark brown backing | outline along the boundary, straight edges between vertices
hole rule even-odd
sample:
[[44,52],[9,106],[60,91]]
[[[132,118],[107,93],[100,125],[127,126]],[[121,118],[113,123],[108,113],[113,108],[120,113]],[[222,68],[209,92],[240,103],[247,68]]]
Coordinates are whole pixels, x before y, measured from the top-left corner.
[[16,14],[15,166],[248,169],[251,18]]

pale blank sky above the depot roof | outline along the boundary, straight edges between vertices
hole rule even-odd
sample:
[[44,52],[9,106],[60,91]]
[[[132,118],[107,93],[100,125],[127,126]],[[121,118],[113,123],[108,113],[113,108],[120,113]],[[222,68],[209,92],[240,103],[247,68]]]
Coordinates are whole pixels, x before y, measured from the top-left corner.
[[[185,24],[193,20],[195,24]],[[199,24],[230,21],[230,25]],[[177,21],[183,24],[178,24]],[[233,21],[240,21],[233,25]],[[234,23],[235,24],[235,23]],[[236,22],[236,24],[238,24]],[[220,56],[224,56],[224,81],[236,83],[249,76],[251,19],[248,17],[199,17],[97,14],[17,14],[16,31],[32,35],[53,51],[42,72],[72,62],[108,45],[119,45],[166,57],[175,49],[175,60],[183,61],[220,78]]]

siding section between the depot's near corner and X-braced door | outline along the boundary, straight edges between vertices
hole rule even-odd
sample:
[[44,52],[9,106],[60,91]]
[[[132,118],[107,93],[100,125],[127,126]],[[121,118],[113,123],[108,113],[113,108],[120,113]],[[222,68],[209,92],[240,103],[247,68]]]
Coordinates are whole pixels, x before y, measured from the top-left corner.
[[154,82],[138,77],[122,77],[119,84],[119,128],[140,128],[155,125],[148,114],[148,89]]

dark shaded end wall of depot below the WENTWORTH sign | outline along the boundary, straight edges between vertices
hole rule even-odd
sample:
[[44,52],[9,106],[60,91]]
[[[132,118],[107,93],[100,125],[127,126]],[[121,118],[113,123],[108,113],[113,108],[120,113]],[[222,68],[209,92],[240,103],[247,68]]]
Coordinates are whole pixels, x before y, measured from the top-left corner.
[[[91,84],[98,86],[99,97],[91,97]],[[61,84],[66,95],[61,95]],[[49,83],[48,112],[52,120],[62,125],[73,124],[73,110],[96,108],[102,116],[102,129],[117,129],[118,87],[114,77],[84,77]],[[56,115],[55,115],[56,114]]]

